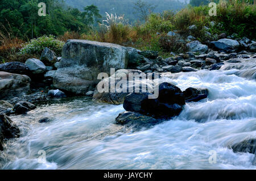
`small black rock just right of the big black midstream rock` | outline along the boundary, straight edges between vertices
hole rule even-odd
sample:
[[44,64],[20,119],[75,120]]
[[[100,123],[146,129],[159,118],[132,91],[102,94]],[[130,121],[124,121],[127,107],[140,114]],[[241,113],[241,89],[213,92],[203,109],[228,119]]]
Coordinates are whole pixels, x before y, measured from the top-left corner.
[[209,91],[208,89],[189,87],[188,89],[183,91],[183,94],[186,102],[197,102],[201,99],[207,98]]

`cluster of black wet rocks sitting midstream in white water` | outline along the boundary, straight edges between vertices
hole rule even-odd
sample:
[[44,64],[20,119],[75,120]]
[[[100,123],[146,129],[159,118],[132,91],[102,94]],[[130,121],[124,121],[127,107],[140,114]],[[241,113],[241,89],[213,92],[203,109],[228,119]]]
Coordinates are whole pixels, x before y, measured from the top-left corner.
[[150,99],[150,92],[133,92],[125,96],[123,108],[126,112],[118,115],[115,121],[126,125],[154,125],[179,115],[185,102],[197,102],[207,98],[207,89],[189,87],[181,91],[179,87],[168,82],[160,83],[159,95]]

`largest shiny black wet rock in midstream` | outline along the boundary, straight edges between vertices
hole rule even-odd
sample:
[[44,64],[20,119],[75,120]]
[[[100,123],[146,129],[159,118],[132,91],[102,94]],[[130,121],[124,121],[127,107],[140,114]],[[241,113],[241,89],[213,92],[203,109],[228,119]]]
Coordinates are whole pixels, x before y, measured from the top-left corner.
[[123,108],[126,111],[139,112],[158,119],[170,119],[183,110],[185,104],[183,92],[170,83],[163,82],[159,85],[157,99],[150,99],[149,95],[152,96],[149,92],[130,93],[125,96]]

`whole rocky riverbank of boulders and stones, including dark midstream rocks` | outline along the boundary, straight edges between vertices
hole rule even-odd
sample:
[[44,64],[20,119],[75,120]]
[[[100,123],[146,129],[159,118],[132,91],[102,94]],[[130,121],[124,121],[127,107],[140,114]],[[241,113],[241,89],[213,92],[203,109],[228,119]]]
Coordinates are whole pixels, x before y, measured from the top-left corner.
[[[177,35],[170,33],[170,36]],[[233,74],[256,79],[256,42],[246,37],[238,40],[227,39],[225,35],[220,37],[208,45],[190,40],[186,44],[188,52],[171,52],[174,56],[168,58],[160,57],[156,51],[141,51],[95,41],[68,40],[61,57],[56,57],[55,52],[46,48],[40,60],[31,58],[24,64],[1,64],[0,149],[3,149],[2,145],[7,139],[19,136],[19,128],[8,115],[26,114],[36,108],[35,104],[51,99],[86,95],[93,96],[94,101],[101,103],[123,104],[126,112],[120,113],[115,119],[116,123],[140,129],[172,119],[183,111],[186,103],[206,99],[209,94],[205,87],[187,87],[181,91],[171,82],[165,82],[165,77],[172,78],[181,73],[200,70],[234,69]],[[110,74],[110,68],[115,69],[114,74]],[[107,73],[109,77],[100,82],[100,73]],[[129,77],[129,73],[158,74],[158,98],[148,99],[156,85],[154,76],[147,82],[139,81],[141,87],[130,85],[129,81],[134,80],[129,79],[126,91],[111,91],[110,83],[114,82],[114,87],[117,86],[123,77]],[[106,82],[108,92],[96,89],[97,85],[106,85]],[[137,88],[138,92],[129,92]],[[236,151],[247,150],[239,145],[232,148]],[[249,150],[250,153],[255,152],[254,147]]]

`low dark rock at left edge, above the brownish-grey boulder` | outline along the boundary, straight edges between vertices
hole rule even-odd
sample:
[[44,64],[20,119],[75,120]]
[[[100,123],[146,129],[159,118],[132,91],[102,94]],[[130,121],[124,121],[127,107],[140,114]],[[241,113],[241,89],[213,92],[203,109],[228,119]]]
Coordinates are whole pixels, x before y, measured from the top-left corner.
[[0,64],[0,71],[6,71],[14,74],[29,74],[30,70],[26,64],[22,62],[7,62],[5,64]]

